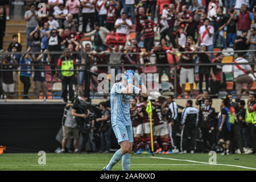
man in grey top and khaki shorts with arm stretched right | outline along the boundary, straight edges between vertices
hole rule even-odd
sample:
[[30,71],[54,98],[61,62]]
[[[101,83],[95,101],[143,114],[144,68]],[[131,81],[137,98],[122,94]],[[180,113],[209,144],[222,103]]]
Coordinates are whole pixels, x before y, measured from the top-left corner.
[[65,146],[68,138],[74,139],[73,144],[75,147],[75,153],[79,152],[79,149],[78,149],[79,130],[77,130],[77,123],[74,119],[75,117],[73,118],[73,116],[85,117],[85,114],[77,114],[76,110],[73,109],[72,107],[73,107],[73,104],[67,104],[64,109],[64,114],[62,118],[63,140],[62,140],[61,153],[65,152]]

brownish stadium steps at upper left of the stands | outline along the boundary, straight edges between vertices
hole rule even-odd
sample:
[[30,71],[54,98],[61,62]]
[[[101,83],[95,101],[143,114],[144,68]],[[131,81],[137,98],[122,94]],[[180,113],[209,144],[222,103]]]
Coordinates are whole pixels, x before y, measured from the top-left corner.
[[27,35],[26,35],[26,21],[25,20],[9,20],[6,22],[6,36],[3,39],[3,49],[7,49],[13,35],[20,32],[20,43],[22,44],[22,51],[26,51]]

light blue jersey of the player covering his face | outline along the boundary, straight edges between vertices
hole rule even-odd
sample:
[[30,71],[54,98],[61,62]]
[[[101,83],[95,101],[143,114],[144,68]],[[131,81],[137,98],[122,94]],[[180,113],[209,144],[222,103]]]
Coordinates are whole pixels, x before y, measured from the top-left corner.
[[[131,96],[122,94],[122,89],[122,83],[117,82],[113,85],[110,92],[112,127],[115,125],[132,126],[130,117]],[[139,88],[133,85],[133,93],[138,92]]]

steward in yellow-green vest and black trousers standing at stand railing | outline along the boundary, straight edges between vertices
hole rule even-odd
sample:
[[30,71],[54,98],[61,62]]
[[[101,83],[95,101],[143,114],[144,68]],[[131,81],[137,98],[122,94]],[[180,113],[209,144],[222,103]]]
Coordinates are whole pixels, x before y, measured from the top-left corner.
[[[68,91],[69,91],[69,101],[74,98],[73,84],[74,79],[77,77],[76,73],[73,71],[76,65],[76,60],[70,55],[68,48],[64,49],[64,55],[60,57],[57,63],[59,71],[59,77],[62,81],[62,94],[64,102],[68,102]],[[68,90],[67,90],[68,87]]]

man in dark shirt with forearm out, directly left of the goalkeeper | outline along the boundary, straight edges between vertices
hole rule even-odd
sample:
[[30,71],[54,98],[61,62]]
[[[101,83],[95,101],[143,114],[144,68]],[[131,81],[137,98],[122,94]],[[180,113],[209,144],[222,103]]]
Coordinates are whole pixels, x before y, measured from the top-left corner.
[[110,111],[106,108],[106,103],[100,103],[100,110],[102,111],[102,118],[97,118],[96,122],[101,122],[100,135],[101,135],[101,153],[109,153],[110,137],[111,137],[111,122]]

